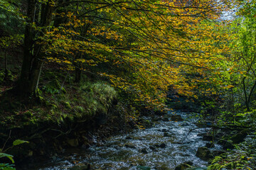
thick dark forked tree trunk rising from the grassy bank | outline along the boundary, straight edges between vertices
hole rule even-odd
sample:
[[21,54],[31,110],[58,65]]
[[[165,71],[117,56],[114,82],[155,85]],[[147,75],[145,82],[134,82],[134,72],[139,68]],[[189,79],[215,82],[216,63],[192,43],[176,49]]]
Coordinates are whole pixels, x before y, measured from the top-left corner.
[[[49,26],[53,14],[53,6],[42,4],[41,8],[36,4],[36,0],[28,0],[27,25],[24,34],[23,63],[21,67],[21,77],[18,82],[19,94],[31,96],[38,88],[38,81],[43,66],[41,55],[41,45],[35,43],[36,31],[30,24],[38,21],[38,10],[41,10],[40,26]],[[40,33],[38,34],[40,35]]]

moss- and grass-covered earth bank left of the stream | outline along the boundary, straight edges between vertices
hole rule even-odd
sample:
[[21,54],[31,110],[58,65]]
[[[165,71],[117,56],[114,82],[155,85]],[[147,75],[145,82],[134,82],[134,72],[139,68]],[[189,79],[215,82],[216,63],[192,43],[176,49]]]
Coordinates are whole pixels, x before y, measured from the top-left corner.
[[[102,139],[129,127],[128,109],[106,81],[73,84],[72,79],[55,74],[46,72],[31,98],[18,97],[11,88],[1,93],[0,146],[14,155],[18,169],[68,147],[87,147],[95,137]],[[11,147],[16,139],[29,143]]]

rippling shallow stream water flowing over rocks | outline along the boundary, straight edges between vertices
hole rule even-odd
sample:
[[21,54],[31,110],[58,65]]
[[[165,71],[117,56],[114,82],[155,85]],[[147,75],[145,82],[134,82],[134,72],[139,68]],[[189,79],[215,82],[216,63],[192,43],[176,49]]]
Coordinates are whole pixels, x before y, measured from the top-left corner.
[[[91,164],[92,169],[175,169],[178,164],[193,162],[193,166],[206,167],[207,162],[196,157],[198,147],[206,141],[198,134],[208,132],[208,128],[197,128],[197,118],[192,113],[181,111],[166,115],[181,115],[183,121],[156,122],[153,128],[134,130],[124,135],[110,137],[102,144],[88,149],[72,149],[61,159],[41,166],[41,170],[68,169],[74,164]],[[220,149],[215,145],[213,149]]]

